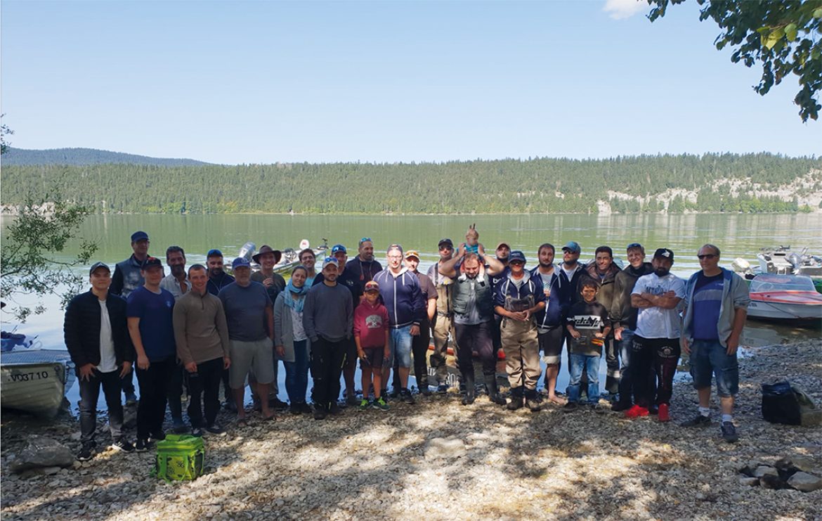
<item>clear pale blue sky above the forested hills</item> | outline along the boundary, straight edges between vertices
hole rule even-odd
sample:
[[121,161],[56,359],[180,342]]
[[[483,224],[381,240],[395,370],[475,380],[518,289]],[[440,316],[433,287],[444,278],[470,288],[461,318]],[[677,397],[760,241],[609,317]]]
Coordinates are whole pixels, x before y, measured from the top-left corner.
[[226,164],[820,155],[797,80],[757,95],[695,2],[609,2],[3,0],[2,121]]

